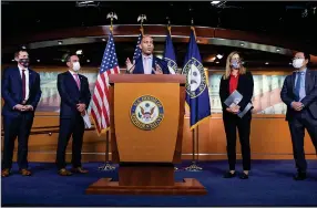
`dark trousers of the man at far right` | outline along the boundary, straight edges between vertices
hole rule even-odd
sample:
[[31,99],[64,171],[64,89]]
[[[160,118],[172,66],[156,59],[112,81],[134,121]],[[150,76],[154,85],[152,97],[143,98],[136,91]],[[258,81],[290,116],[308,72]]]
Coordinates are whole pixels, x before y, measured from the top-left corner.
[[317,154],[317,119],[314,119],[307,110],[296,113],[288,121],[292,135],[293,154],[298,171],[306,171],[307,162],[305,159],[304,137],[307,129]]

